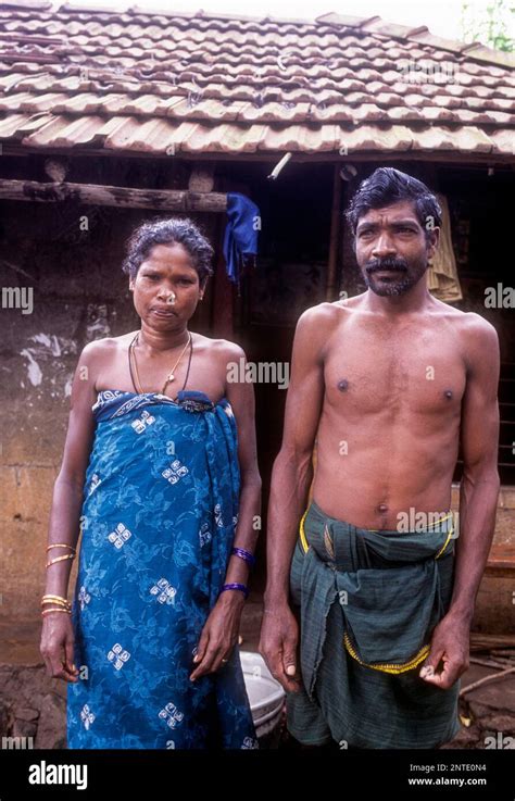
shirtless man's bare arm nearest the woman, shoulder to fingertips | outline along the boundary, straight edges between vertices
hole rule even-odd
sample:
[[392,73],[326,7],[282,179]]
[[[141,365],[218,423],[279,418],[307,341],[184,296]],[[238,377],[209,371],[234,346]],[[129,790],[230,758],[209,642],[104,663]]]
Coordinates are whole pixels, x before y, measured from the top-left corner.
[[324,349],[335,309],[322,304],[300,317],[293,341],[282,445],[272,473],[267,585],[260,651],[285,689],[297,672],[297,622],[288,605],[299,522],[313,478],[312,455],[324,399]]

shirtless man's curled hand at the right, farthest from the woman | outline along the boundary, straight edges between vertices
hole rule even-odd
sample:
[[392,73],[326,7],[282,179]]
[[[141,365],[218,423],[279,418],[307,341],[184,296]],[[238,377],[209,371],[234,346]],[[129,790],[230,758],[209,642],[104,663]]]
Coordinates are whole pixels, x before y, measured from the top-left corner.
[[467,619],[448,613],[432,633],[431,650],[419,676],[448,690],[468,668],[470,626]]

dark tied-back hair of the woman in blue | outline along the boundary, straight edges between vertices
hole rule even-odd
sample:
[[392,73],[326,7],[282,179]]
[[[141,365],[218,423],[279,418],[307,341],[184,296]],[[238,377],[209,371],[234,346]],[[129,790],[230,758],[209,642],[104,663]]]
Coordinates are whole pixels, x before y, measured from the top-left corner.
[[155,245],[181,245],[191,258],[191,266],[197,270],[200,284],[213,275],[213,248],[200,228],[184,217],[154,220],[136,228],[127,241],[127,255],[122,264],[124,273],[136,278],[139,267]]

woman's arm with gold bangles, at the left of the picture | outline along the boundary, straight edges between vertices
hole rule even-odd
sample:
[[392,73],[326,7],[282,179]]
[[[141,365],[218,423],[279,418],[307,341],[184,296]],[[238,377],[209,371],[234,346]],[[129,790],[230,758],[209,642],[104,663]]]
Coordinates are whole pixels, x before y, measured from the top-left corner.
[[[96,400],[96,356],[99,348],[98,342],[87,345],[75,371],[63,461],[53,488],[48,546],[77,546],[84,480],[95,429],[91,405]],[[50,548],[46,552],[46,562],[71,552],[70,548]],[[71,559],[47,567],[45,595],[66,598],[71,570]],[[49,608],[51,606],[47,605],[46,609]],[[73,630],[67,614],[46,613],[40,650],[49,675],[76,680],[72,677],[76,672],[72,669]]]

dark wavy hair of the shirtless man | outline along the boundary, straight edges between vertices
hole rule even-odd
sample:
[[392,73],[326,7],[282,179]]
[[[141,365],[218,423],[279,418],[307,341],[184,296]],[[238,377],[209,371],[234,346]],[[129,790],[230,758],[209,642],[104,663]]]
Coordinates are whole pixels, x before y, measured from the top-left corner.
[[[381,209],[390,203],[412,200],[422,227],[429,236],[431,228],[442,222],[442,210],[430,189],[422,180],[393,167],[378,167],[368,178],[362,180],[346,212],[347,220],[355,236],[360,217],[370,209]],[[431,222],[429,226],[428,223]]]

